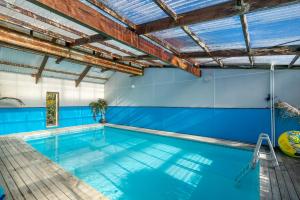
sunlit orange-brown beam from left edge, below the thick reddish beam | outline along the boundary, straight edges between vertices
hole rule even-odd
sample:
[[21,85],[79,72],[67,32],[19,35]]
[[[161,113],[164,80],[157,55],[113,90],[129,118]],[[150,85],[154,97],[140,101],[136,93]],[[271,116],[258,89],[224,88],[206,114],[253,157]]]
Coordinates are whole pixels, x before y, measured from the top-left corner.
[[117,63],[109,59],[99,58],[83,51],[53,44],[52,42],[33,38],[3,27],[0,27],[0,42],[8,46],[24,48],[54,57],[64,57],[75,62],[95,65],[100,68],[105,67],[129,74],[143,75],[143,71],[139,68]]

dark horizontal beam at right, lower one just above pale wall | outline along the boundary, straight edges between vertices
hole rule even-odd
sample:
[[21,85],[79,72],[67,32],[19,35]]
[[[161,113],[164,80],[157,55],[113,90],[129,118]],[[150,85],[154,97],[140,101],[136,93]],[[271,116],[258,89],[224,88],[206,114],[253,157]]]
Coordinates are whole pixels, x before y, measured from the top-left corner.
[[[213,55],[217,57],[244,57],[248,56],[248,52],[244,49],[228,49],[212,51]],[[271,56],[271,55],[297,55],[300,54],[300,46],[282,46],[282,47],[270,47],[270,48],[252,48],[251,56]],[[183,58],[207,58],[206,52],[188,52],[181,54]]]

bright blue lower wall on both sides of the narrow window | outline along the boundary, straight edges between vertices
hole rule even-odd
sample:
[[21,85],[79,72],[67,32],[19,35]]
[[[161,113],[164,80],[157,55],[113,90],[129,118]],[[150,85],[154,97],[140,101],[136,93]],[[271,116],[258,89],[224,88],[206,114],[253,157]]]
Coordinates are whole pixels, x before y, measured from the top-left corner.
[[[99,119],[98,119],[99,120]],[[59,126],[92,124],[88,106],[60,107]],[[46,108],[0,108],[0,135],[46,129]]]

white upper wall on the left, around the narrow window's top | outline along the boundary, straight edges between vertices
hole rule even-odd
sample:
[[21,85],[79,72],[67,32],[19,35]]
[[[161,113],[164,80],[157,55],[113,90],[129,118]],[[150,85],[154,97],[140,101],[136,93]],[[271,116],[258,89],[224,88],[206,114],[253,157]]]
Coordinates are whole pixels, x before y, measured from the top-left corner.
[[[45,107],[46,92],[59,92],[60,106],[87,106],[104,97],[104,85],[82,82],[76,88],[74,81],[44,77],[35,84],[29,75],[0,72],[0,96],[19,98],[26,107]],[[0,106],[14,105],[2,102]]]

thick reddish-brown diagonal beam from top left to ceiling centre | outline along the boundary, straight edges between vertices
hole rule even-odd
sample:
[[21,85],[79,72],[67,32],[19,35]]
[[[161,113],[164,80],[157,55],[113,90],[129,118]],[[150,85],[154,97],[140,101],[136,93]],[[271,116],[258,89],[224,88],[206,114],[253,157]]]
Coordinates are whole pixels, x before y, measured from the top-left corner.
[[[178,56],[165,51],[151,42],[139,37],[135,32],[114,22],[97,10],[85,5],[79,0],[29,0],[32,3],[54,11],[55,13],[79,22],[82,25],[93,28],[99,33],[105,34],[119,42],[132,48],[140,50],[146,54],[157,57],[180,69],[188,71],[195,76],[200,76],[200,69],[195,68],[190,63],[182,60]],[[67,6],[66,6],[67,5]]]

